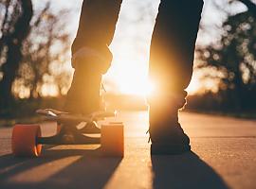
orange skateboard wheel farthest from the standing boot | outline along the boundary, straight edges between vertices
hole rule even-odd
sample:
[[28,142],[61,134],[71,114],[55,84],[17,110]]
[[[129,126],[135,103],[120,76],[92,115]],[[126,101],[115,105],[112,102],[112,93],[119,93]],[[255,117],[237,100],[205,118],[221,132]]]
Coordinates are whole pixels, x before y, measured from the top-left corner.
[[41,136],[39,125],[15,125],[12,130],[11,148],[17,157],[38,157],[42,145],[37,144],[37,137]]

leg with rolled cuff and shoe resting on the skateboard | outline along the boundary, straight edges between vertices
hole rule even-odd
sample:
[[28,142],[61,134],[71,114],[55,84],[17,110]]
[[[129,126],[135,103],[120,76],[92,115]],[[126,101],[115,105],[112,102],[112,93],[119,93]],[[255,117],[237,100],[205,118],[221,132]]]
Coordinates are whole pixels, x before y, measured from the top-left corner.
[[65,111],[90,113],[101,103],[101,75],[110,67],[112,42],[121,0],[83,0],[78,33],[72,44],[75,69]]

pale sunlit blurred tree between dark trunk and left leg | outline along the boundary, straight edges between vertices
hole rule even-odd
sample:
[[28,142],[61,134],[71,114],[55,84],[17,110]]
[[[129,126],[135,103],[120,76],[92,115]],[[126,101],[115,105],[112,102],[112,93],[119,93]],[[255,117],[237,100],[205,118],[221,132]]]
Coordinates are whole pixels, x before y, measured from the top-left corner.
[[14,94],[18,97],[21,88],[28,90],[30,98],[38,98],[45,85],[58,88],[58,94],[68,86],[70,74],[64,70],[70,48],[69,33],[64,30],[68,11],[52,13],[49,8],[46,4],[34,15],[30,35],[24,41],[23,59],[15,78]]

